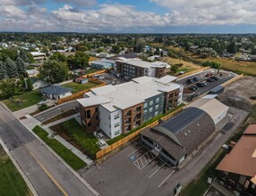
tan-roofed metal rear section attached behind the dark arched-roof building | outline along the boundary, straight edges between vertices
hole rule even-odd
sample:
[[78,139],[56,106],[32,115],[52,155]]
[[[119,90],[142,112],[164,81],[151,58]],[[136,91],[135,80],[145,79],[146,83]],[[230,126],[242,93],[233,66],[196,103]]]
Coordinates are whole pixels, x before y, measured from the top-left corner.
[[214,124],[217,125],[223,118],[226,117],[228,107],[222,102],[215,99],[217,94],[208,94],[201,99],[190,103],[187,107],[195,107],[204,110],[213,119]]

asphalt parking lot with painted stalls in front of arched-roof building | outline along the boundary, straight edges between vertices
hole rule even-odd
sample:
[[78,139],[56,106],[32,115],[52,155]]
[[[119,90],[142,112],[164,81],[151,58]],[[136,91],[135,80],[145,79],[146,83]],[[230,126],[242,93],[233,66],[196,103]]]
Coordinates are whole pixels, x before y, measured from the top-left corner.
[[157,195],[174,173],[174,168],[136,142],[82,176],[104,196]]

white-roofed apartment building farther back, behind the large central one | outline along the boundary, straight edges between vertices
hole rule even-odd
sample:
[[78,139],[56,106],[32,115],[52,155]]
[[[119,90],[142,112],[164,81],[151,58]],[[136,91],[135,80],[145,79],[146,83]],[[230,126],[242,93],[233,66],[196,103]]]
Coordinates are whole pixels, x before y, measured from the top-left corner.
[[119,57],[115,61],[115,72],[128,78],[139,78],[143,76],[162,78],[166,76],[166,68],[170,66],[161,61],[142,61],[141,59],[126,59]]

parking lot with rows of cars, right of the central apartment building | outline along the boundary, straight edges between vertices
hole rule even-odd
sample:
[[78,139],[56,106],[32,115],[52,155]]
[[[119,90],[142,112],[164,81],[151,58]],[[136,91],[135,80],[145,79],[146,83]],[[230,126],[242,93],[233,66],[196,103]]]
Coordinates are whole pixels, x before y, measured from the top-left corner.
[[[177,81],[179,84],[183,84],[184,86],[184,91],[183,91],[183,101],[186,102],[191,102],[192,97],[197,97],[200,96],[201,94],[205,94],[209,92],[212,88],[219,86],[226,81],[228,81],[231,78],[234,78],[236,75],[231,72],[227,71],[221,71],[220,74],[216,76],[218,80],[211,80],[209,78],[211,77],[206,77],[209,73],[212,72],[212,69],[205,70],[199,74],[193,75],[188,78],[183,78]],[[198,82],[195,82],[193,78],[199,79]],[[188,80],[191,80],[192,83],[189,83]],[[199,86],[197,83],[204,83],[206,86]],[[191,90],[192,86],[195,86],[195,90]]]

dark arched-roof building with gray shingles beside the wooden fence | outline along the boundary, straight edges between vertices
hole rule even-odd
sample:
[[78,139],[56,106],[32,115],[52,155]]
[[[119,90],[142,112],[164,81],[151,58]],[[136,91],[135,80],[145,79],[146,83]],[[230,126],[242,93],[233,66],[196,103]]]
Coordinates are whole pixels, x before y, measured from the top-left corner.
[[190,107],[157,127],[141,131],[141,142],[177,167],[215,131],[213,119],[204,110]]

